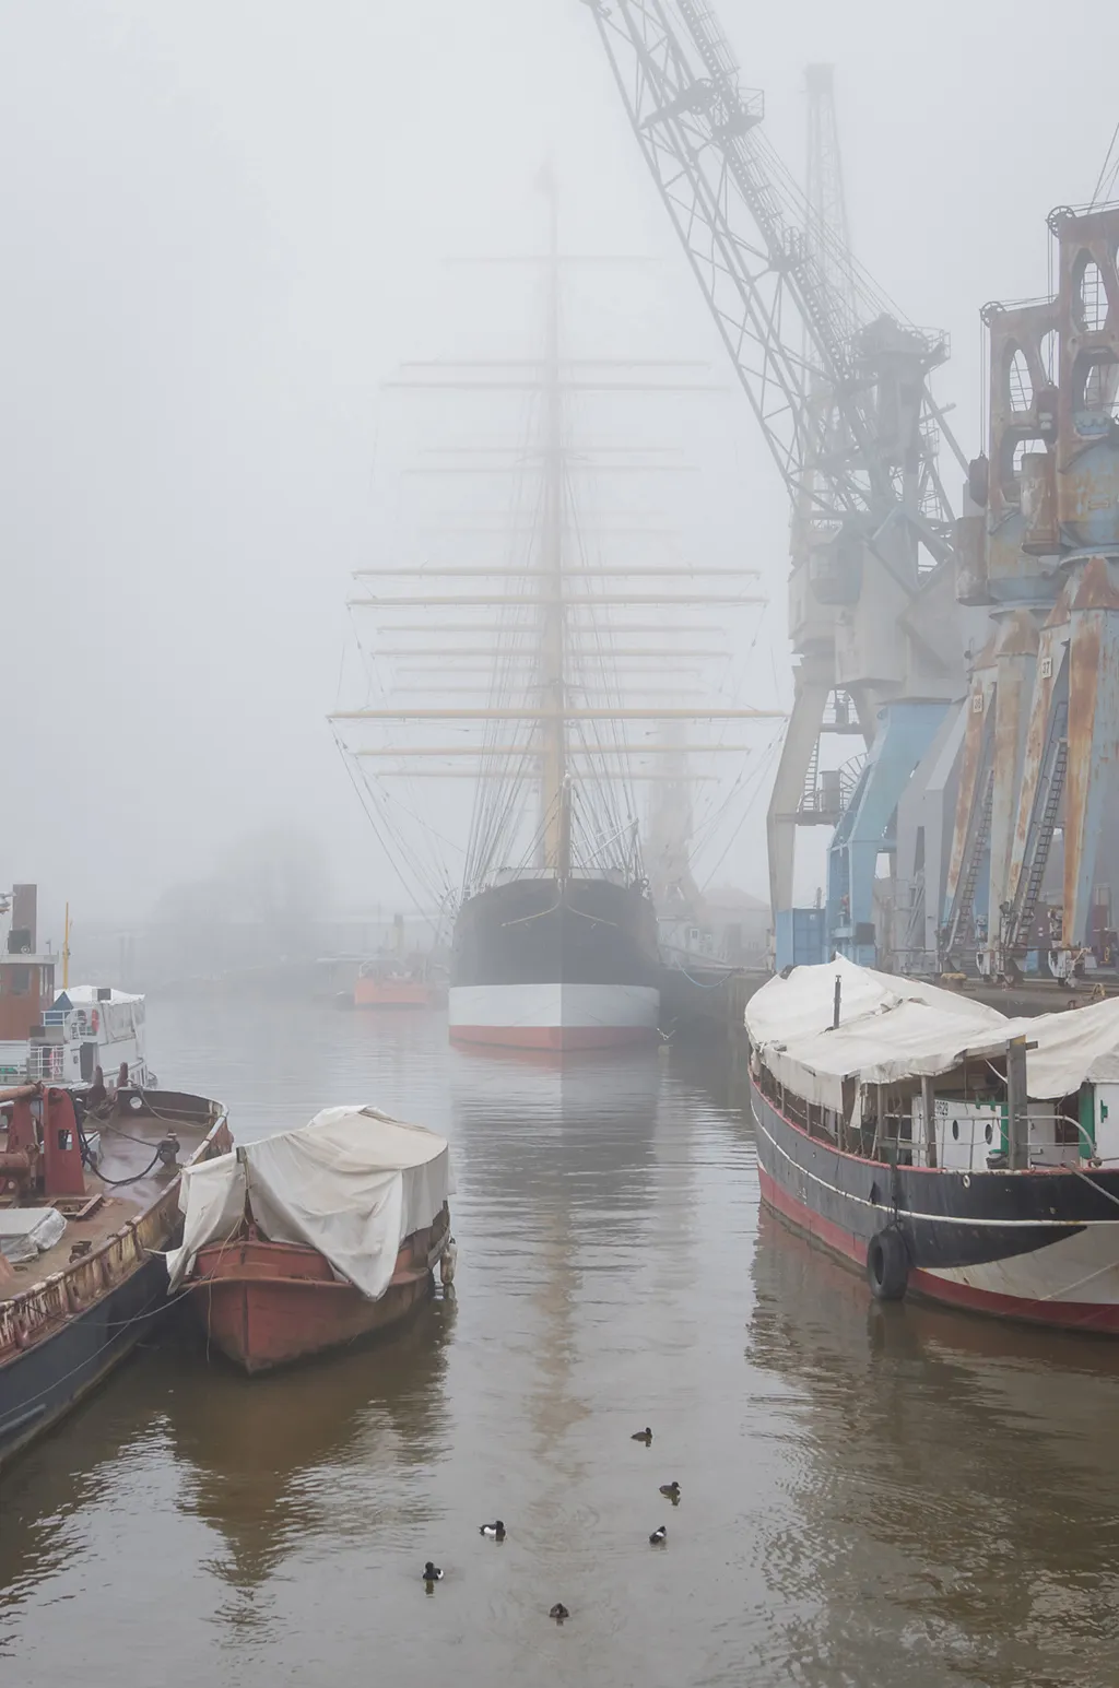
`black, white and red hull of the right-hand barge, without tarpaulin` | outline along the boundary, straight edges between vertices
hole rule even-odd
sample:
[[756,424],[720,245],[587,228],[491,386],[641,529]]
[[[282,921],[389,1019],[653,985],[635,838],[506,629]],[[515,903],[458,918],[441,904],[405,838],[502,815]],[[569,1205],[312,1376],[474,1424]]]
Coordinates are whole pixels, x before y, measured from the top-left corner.
[[761,1198],[857,1266],[879,1232],[910,1293],[1119,1335],[1119,1170],[889,1166],[808,1134],[751,1074]]

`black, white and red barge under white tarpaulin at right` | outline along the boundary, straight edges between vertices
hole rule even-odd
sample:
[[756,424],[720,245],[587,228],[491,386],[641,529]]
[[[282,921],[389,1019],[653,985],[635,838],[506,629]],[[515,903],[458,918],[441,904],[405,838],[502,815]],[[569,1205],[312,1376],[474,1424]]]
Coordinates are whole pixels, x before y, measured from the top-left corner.
[[837,959],[746,1030],[761,1197],[876,1296],[1119,1334],[1119,1003],[1006,1020]]

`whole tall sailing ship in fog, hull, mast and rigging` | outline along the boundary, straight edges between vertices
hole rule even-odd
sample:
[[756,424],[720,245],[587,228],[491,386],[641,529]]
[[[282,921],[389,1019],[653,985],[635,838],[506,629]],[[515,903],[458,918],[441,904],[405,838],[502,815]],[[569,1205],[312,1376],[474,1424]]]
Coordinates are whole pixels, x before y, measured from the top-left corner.
[[[332,719],[381,842],[390,852],[395,844],[414,879],[424,849],[393,832],[422,797],[412,785],[400,800],[400,782],[461,776],[474,785],[461,881],[439,885],[429,874],[425,886],[429,900],[454,908],[451,1038],[609,1048],[651,1041],[658,1028],[662,962],[635,785],[660,778],[678,787],[687,722],[722,722],[726,731],[763,714],[722,699],[699,706],[687,689],[697,670],[729,660],[726,618],[699,623],[697,614],[761,599],[744,592],[741,569],[646,562],[657,554],[651,528],[630,530],[643,537],[640,560],[604,560],[581,515],[579,476],[589,468],[604,478],[619,469],[662,474],[670,466],[657,457],[663,447],[576,446],[572,395],[694,388],[695,378],[680,373],[694,366],[565,354],[554,194],[550,250],[535,262],[545,275],[542,356],[412,366],[407,381],[527,395],[525,432],[506,461],[493,461],[501,447],[447,447],[466,461],[430,471],[515,476],[513,508],[498,528],[505,554],[498,562],[486,555],[361,571],[376,582],[351,599],[376,628],[373,697]],[[606,532],[616,538],[619,530]],[[711,589],[712,576],[731,579]],[[412,586],[397,589],[400,579]],[[474,584],[447,589],[462,579]],[[408,621],[415,611],[420,619]],[[419,645],[407,643],[417,635]],[[403,695],[414,689],[410,674],[425,694],[420,704]],[[462,694],[469,704],[452,702]],[[390,724],[392,741],[361,738]],[[444,743],[432,743],[434,729]],[[449,798],[444,834],[452,812]]]

